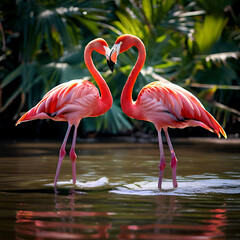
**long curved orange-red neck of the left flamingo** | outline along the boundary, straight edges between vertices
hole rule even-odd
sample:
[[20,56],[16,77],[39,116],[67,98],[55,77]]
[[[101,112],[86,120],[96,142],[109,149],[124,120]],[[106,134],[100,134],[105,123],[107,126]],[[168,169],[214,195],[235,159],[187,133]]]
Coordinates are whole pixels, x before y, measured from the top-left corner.
[[99,114],[103,114],[111,108],[113,99],[107,83],[105,82],[104,78],[99,73],[99,71],[96,69],[92,61],[92,52],[95,49],[96,47],[92,46],[92,44],[89,44],[86,47],[84,52],[84,61],[89,72],[91,73],[91,75],[93,76],[93,78],[95,79],[99,87],[101,97],[100,97],[100,102],[98,103],[98,111],[99,111]]

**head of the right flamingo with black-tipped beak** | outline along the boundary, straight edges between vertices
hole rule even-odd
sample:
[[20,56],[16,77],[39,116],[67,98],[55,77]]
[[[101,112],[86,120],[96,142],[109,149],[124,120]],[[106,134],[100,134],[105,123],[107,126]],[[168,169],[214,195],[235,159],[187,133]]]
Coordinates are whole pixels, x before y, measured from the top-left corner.
[[134,46],[137,41],[141,41],[138,37],[131,34],[124,34],[118,37],[115,44],[110,50],[110,56],[107,58],[108,67],[113,72],[114,65],[117,63],[117,57],[120,53],[127,51]]

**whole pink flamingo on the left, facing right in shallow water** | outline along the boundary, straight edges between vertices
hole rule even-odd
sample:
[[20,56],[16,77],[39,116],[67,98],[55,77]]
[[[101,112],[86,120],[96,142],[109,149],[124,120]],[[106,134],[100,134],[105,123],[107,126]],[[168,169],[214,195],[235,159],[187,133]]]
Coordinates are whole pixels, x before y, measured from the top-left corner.
[[49,92],[42,100],[28,112],[26,112],[16,123],[31,121],[35,119],[52,119],[54,121],[67,121],[68,128],[59,151],[59,160],[54,179],[54,186],[57,185],[62,160],[66,154],[66,143],[72,126],[74,125],[73,140],[70,150],[72,163],[73,184],[76,183],[76,158],[75,145],[77,129],[82,118],[97,117],[107,112],[112,106],[112,95],[109,87],[101,74],[95,68],[91,55],[96,51],[107,58],[110,53],[107,42],[98,38],[88,43],[84,51],[85,64],[98,84],[98,89],[89,81],[75,79],[62,83]]

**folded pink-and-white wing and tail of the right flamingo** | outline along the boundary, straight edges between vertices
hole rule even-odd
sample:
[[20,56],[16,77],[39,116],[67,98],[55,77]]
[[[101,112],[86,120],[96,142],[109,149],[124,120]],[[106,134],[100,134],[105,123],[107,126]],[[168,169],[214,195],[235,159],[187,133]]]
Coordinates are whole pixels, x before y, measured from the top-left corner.
[[170,82],[146,85],[138,101],[146,120],[158,128],[201,126],[226,138],[226,133],[201,102],[189,91]]

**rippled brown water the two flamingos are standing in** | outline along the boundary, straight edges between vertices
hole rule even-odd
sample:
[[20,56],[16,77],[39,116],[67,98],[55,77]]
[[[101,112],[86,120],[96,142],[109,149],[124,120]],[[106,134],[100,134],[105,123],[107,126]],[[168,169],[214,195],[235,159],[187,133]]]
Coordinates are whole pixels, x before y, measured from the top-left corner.
[[[0,239],[240,239],[240,144],[174,144],[179,187],[157,144],[77,144],[53,180],[60,142],[0,145]],[[167,162],[170,154],[164,149]]]

